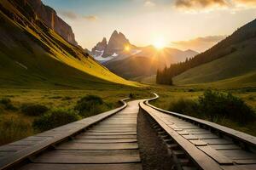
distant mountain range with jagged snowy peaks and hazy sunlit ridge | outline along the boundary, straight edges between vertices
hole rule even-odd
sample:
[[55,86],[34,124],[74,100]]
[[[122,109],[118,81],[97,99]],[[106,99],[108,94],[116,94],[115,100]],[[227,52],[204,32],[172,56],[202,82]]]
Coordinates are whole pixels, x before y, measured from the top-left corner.
[[137,47],[132,45],[123,33],[113,31],[109,41],[103,38],[102,42],[98,42],[91,49],[91,54],[113,73],[120,77],[134,79],[152,76],[158,68],[182,62],[198,53],[176,48],[158,50],[152,45]]

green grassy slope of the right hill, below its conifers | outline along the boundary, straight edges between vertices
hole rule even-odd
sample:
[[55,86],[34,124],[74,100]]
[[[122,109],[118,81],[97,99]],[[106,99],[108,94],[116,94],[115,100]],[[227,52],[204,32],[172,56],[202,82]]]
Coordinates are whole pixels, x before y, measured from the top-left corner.
[[215,86],[255,86],[256,38],[236,44],[236,52],[185,71],[173,81],[177,85],[212,83]]

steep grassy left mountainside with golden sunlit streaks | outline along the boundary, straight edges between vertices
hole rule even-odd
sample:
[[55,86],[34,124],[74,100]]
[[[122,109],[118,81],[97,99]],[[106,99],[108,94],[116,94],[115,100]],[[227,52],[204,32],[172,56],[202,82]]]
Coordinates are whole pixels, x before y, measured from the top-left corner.
[[[0,1],[0,87],[1,88],[88,88],[104,84],[137,85],[114,75],[83,48],[67,42],[41,18],[30,0]],[[37,4],[42,4],[37,0]],[[44,11],[44,5],[41,5]],[[49,8],[48,8],[49,9]],[[48,11],[45,9],[45,11]],[[53,10],[53,9],[52,9]],[[44,12],[45,12],[44,11]],[[45,14],[48,14],[47,12]],[[47,22],[45,21],[47,20]],[[65,30],[67,24],[58,23]],[[69,32],[70,33],[70,32]]]

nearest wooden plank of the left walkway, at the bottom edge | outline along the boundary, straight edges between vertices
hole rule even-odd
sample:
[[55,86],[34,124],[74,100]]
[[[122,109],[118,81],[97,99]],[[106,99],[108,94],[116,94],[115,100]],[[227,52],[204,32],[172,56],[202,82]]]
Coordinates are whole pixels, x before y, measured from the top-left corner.
[[119,164],[44,164],[31,163],[18,170],[143,170],[141,163]]

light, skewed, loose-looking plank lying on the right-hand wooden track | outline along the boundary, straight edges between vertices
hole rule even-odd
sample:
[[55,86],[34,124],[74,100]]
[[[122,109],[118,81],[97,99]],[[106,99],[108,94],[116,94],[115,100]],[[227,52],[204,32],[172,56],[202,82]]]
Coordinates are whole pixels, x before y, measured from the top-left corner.
[[208,156],[212,157],[219,164],[233,164],[233,161],[230,158],[221,154],[218,150],[212,149],[210,146],[198,146],[200,150],[205,152]]

